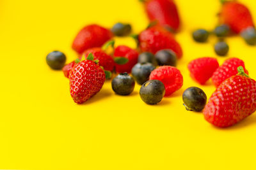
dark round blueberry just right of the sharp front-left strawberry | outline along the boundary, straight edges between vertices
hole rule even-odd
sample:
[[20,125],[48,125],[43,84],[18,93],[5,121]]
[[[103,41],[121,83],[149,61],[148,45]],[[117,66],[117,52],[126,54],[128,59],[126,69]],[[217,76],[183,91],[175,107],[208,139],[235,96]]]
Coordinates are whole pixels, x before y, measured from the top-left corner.
[[112,89],[119,95],[125,96],[131,94],[134,90],[134,86],[134,79],[127,73],[120,73],[112,80]]

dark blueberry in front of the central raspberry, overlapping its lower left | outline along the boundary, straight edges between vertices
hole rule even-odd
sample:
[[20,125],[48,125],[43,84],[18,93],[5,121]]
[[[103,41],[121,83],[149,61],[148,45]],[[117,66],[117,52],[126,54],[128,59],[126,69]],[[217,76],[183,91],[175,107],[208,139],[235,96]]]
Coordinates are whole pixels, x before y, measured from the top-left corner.
[[165,94],[164,84],[159,80],[149,80],[140,88],[140,97],[147,104],[159,103]]

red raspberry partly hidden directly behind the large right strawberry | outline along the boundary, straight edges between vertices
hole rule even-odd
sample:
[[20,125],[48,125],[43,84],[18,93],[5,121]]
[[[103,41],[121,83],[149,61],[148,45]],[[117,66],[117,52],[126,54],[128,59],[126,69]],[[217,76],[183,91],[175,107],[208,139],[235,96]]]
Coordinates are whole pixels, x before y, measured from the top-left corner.
[[230,76],[234,76],[237,74],[237,67],[242,66],[245,70],[245,73],[248,74],[248,71],[244,67],[243,60],[237,58],[231,58],[225,60],[222,66],[218,67],[216,71],[212,75],[212,83],[218,87],[220,83]]

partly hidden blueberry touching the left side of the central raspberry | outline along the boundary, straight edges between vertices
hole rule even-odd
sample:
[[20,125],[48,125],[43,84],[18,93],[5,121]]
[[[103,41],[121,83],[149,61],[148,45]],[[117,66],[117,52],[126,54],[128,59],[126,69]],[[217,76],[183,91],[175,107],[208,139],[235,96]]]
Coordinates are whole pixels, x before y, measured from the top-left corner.
[[149,62],[137,63],[132,67],[132,76],[138,84],[142,85],[148,81],[151,71],[155,68],[156,67]]

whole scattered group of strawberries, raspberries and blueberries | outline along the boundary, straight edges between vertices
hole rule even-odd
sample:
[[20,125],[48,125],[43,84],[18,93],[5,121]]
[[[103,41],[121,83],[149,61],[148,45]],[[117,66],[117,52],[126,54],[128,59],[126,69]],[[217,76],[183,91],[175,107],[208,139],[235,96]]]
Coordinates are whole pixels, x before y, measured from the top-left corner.
[[[141,85],[140,97],[147,104],[157,104],[182,87],[183,76],[176,68],[182,57],[182,48],[175,39],[180,27],[177,6],[170,0],[143,3],[150,25],[140,34],[131,34],[129,24],[117,23],[112,29],[86,25],[72,44],[78,54],[76,60],[65,65],[64,53],[54,51],[47,55],[47,64],[52,69],[62,69],[69,79],[75,103],[84,103],[97,94],[106,79],[112,79],[113,91],[122,96],[131,94],[136,83]],[[214,34],[221,39],[232,31],[240,33],[248,44],[256,44],[252,17],[243,4],[223,3],[220,23]],[[115,36],[131,36],[138,48],[115,46]],[[207,41],[208,36],[209,32],[203,29],[193,32],[198,42]],[[218,55],[228,52],[223,40],[214,48]],[[186,110],[203,110],[205,119],[218,127],[234,125],[256,110],[256,81],[248,76],[243,60],[234,57],[219,66],[217,59],[202,57],[189,62],[188,69],[193,80],[204,85],[211,79],[216,90],[207,103],[202,89],[186,89],[182,95]]]

